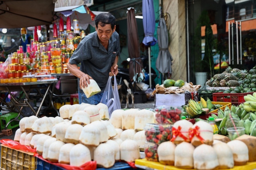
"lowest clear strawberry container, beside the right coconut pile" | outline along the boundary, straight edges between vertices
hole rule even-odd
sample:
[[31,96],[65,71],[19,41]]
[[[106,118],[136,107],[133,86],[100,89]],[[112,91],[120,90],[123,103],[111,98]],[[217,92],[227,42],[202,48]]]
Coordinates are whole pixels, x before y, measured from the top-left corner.
[[145,152],[145,158],[148,161],[158,162],[157,148],[158,148],[157,144],[145,142],[144,152]]

